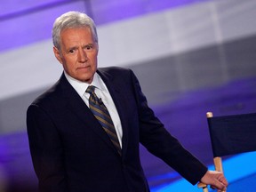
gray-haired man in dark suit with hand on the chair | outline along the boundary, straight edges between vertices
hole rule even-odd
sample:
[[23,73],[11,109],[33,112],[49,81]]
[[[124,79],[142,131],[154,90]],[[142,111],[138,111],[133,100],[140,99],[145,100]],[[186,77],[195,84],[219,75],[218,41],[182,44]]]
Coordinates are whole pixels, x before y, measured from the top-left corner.
[[[40,192],[149,191],[139,143],[192,184],[227,187],[221,172],[207,171],[164,129],[131,70],[97,68],[98,36],[91,18],[81,12],[61,15],[52,39],[64,73],[27,114]],[[98,116],[106,108],[109,127]]]

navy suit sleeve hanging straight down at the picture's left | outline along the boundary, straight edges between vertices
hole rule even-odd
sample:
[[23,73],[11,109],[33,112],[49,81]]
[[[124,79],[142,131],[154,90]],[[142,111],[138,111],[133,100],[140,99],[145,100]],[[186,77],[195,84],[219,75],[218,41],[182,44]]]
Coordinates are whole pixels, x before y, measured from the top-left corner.
[[52,119],[36,105],[27,111],[29,148],[40,192],[66,192],[63,147]]

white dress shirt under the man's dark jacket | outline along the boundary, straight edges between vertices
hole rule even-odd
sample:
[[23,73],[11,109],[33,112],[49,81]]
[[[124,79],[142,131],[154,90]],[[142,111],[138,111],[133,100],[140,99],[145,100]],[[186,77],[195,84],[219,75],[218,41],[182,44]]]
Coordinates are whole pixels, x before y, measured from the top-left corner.
[[73,88],[82,98],[82,100],[84,100],[88,108],[89,108],[90,93],[87,93],[85,91],[89,85],[93,85],[96,87],[95,93],[98,96],[98,98],[100,98],[103,101],[106,108],[108,108],[109,115],[111,116],[113,124],[116,128],[116,134],[117,134],[120,146],[122,148],[123,130],[122,130],[121,121],[116,110],[116,105],[112,100],[110,93],[108,92],[108,88],[106,84],[104,84],[100,76],[97,73],[95,73],[95,75],[93,76],[92,84],[87,84],[87,83],[76,80],[72,76],[69,76],[65,71],[64,71],[64,74],[68,79],[69,84],[73,86]]

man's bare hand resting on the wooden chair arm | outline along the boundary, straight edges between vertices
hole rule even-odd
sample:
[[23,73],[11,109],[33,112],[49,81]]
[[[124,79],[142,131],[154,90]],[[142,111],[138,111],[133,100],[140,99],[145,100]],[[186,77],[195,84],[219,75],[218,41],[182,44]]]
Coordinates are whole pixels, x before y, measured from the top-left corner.
[[218,189],[218,192],[226,190],[228,187],[228,181],[222,172],[207,171],[200,181],[204,184],[210,185],[211,188]]

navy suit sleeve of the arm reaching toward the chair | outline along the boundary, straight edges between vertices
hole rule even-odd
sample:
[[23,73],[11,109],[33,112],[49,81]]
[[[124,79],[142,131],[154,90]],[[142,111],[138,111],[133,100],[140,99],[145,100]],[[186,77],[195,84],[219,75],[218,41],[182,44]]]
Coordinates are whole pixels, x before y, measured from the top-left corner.
[[179,140],[167,132],[164,124],[148,107],[146,97],[141,92],[139,81],[133,73],[132,81],[139,110],[140,143],[150,153],[164,160],[182,177],[195,185],[207,172],[207,167],[183,148]]

